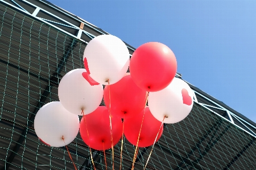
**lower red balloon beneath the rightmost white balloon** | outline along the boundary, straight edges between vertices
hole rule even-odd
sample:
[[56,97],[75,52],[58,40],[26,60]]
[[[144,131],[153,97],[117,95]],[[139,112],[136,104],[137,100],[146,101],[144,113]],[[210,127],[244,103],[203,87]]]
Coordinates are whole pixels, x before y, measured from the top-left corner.
[[[143,118],[144,110],[139,113],[134,118],[129,118],[125,120],[125,137],[127,140],[133,144],[137,145],[139,129],[141,128],[141,122]],[[148,147],[154,144],[156,135],[160,129],[162,122],[156,120],[156,118],[151,114],[150,109],[146,107],[144,119],[142,123],[141,135],[139,136],[139,147]],[[163,126],[161,127],[158,138],[156,138],[156,142],[163,134]]]

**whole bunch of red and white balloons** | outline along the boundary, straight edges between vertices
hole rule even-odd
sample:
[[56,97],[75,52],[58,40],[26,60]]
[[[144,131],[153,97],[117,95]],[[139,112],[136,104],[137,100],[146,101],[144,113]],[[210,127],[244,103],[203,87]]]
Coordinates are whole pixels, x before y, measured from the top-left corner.
[[[133,145],[151,146],[163,133],[163,123],[179,122],[192,109],[191,88],[175,78],[176,58],[164,44],[143,44],[130,58],[122,40],[100,35],[88,43],[83,59],[85,69],[61,79],[60,101],[44,105],[35,116],[36,134],[49,146],[68,145],[79,129],[95,150],[116,145],[122,129]],[[106,106],[99,107],[102,97]],[[83,116],[80,122],[78,116]]]

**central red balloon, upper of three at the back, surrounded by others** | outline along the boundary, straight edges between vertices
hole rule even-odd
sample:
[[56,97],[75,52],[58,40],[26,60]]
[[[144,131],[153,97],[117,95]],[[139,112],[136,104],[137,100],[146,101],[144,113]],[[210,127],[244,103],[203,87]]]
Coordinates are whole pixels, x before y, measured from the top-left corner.
[[[124,76],[117,83],[110,85],[111,114],[123,118],[133,117],[144,109],[147,92],[139,88],[131,79],[131,75]],[[109,108],[109,86],[104,88],[104,101]]]

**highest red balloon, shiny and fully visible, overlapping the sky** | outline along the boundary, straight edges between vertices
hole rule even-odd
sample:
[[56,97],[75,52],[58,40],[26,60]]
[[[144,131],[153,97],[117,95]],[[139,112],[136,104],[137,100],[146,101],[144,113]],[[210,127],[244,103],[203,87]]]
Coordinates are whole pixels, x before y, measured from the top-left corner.
[[147,42],[131,56],[131,78],[143,90],[163,90],[171,83],[177,71],[177,61],[168,46],[160,42]]

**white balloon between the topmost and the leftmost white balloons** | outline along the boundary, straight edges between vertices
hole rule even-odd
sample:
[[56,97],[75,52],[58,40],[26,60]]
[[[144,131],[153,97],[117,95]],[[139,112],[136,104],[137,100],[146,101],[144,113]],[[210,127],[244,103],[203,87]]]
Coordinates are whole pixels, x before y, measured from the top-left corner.
[[100,105],[103,97],[102,85],[91,86],[83,77],[85,69],[75,69],[69,71],[60,81],[58,95],[61,104],[67,111],[81,114],[93,112]]

